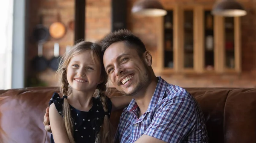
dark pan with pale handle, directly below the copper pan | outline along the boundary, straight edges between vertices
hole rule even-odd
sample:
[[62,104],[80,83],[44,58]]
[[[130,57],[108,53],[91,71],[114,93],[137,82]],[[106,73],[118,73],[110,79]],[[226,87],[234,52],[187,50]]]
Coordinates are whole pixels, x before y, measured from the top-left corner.
[[49,67],[52,70],[58,70],[59,62],[60,62],[61,56],[59,56],[59,44],[54,43],[54,57],[49,61]]

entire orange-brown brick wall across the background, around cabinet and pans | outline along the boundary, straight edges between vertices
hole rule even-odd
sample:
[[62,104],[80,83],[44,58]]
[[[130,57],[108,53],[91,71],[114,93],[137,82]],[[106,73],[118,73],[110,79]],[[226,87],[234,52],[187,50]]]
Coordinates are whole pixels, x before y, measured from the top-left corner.
[[[39,5],[35,0],[31,1],[32,5],[36,5],[40,8],[31,8],[33,13],[38,11],[44,11],[48,8],[56,9],[56,3],[62,5],[63,12],[73,12],[73,0],[48,0],[41,1]],[[215,0],[160,0],[163,6],[168,8],[174,3],[213,3]],[[182,87],[256,87],[256,0],[238,0],[242,3],[248,11],[248,14],[241,18],[241,34],[242,34],[242,74],[224,74],[224,75],[157,75],[162,76],[164,79],[172,84],[177,84]],[[128,11],[131,11],[131,7],[135,0],[128,0]],[[44,3],[44,4],[42,4]],[[55,5],[50,4],[55,3]],[[70,3],[70,5],[68,5]],[[32,7],[32,5],[30,7]],[[86,0],[86,40],[97,41],[101,39],[105,34],[111,32],[111,0]],[[72,10],[71,10],[72,9]],[[67,11],[66,11],[67,10]],[[71,13],[72,13],[71,12]],[[73,14],[73,13],[72,13]],[[69,14],[70,15],[70,14]],[[45,24],[49,25],[52,16],[46,18]],[[65,15],[68,20],[73,19]],[[52,19],[54,20],[54,19]],[[66,22],[68,21],[66,20]],[[30,19],[30,24],[35,25],[35,19]],[[155,57],[156,55],[156,37],[157,37],[157,22],[156,18],[152,17],[138,17],[128,13],[128,28],[134,32],[145,43],[147,49]],[[73,33],[67,33],[67,38],[61,39],[61,41],[70,41],[72,43]],[[53,43],[53,42],[49,42]],[[47,43],[46,46],[52,45]],[[29,53],[35,55],[35,45],[29,46]],[[45,48],[45,53],[48,56],[52,53],[52,47]],[[62,50],[64,51],[64,50]],[[53,54],[53,53],[52,53]],[[50,57],[50,56],[49,56]],[[153,59],[154,60],[154,59]],[[155,62],[153,61],[153,66]],[[38,74],[38,77],[47,82],[48,86],[55,86],[56,78],[54,72],[47,70],[46,72]]]

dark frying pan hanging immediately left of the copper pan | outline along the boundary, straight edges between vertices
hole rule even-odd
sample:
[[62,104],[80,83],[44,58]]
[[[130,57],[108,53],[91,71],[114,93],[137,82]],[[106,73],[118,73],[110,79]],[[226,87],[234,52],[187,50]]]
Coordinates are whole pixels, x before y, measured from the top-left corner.
[[45,42],[49,38],[49,30],[43,25],[43,16],[40,15],[40,24],[36,25],[33,30],[33,38],[35,42]]

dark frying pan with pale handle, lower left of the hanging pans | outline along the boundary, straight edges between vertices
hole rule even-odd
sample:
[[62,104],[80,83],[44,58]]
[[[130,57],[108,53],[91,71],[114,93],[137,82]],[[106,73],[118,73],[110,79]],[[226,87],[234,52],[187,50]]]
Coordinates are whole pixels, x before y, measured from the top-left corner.
[[38,56],[36,56],[32,60],[32,66],[36,71],[44,71],[47,69],[48,66],[48,61],[47,59],[43,56],[43,44],[39,43],[38,44]]

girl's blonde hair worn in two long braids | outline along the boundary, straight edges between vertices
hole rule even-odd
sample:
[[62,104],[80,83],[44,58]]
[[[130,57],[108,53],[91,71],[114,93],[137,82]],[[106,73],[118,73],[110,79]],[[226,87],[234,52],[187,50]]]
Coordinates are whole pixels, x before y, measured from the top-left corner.
[[[98,62],[101,65],[101,78],[103,82],[101,84],[98,84],[97,86],[98,92],[96,92],[96,95],[100,97],[104,111],[108,112],[108,107],[105,100],[106,99],[105,92],[107,90],[106,83],[108,81],[108,75],[104,69],[103,55],[101,51],[101,46],[99,44],[82,41],[74,45],[73,48],[67,51],[64,54],[64,56],[62,56],[58,70],[57,70],[57,75],[59,77],[59,83],[60,83],[60,87],[59,87],[60,92],[62,95],[67,95],[67,96],[72,94],[72,88],[69,87],[69,83],[67,81],[67,66],[70,63],[70,59],[73,56],[79,53],[82,53],[86,50],[90,50],[91,57],[93,58],[93,62],[96,64],[97,62],[95,59],[98,59]],[[62,115],[64,118],[64,124],[65,124],[65,128],[66,128],[70,143],[75,143],[75,140],[73,138],[73,129],[74,129],[73,119],[71,117],[70,105],[67,102],[67,98],[64,98]],[[108,115],[105,115],[102,128],[99,132],[99,135],[96,136],[96,143],[112,143],[113,134],[114,134],[113,128],[109,121]]]

